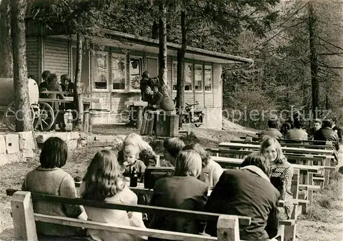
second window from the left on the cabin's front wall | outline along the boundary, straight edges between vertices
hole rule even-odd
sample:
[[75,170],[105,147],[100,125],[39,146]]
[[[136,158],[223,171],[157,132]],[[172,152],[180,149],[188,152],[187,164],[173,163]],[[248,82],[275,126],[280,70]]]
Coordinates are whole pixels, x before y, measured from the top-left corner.
[[125,90],[126,55],[112,53],[112,84],[113,90]]

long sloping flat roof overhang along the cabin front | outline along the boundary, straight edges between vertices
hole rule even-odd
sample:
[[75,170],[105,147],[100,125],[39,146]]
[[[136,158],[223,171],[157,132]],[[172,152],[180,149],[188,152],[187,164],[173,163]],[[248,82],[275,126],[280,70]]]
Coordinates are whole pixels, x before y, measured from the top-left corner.
[[[51,36],[56,38],[65,38],[76,40],[76,35],[56,35]],[[150,53],[158,54],[158,40],[152,38],[144,38],[140,36],[134,36],[132,34],[124,34],[119,31],[106,30],[104,37],[94,37],[92,43],[95,45],[104,45],[110,47],[116,47],[123,50],[126,53],[128,50],[134,51],[146,51]],[[181,45],[177,45],[171,42],[167,42],[167,55],[176,56],[178,49],[181,49]],[[235,63],[253,63],[252,59],[241,58],[235,55],[229,55],[226,53],[218,53],[215,51],[209,51],[205,49],[199,49],[187,46],[185,58],[193,60],[201,60],[205,62],[215,62],[220,64],[235,64]]]

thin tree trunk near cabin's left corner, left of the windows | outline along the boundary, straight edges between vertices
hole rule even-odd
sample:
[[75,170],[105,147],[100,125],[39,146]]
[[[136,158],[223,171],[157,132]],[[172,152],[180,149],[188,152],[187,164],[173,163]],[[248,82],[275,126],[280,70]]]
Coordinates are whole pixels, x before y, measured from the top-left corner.
[[75,68],[75,88],[74,88],[74,103],[78,116],[74,122],[75,129],[78,131],[83,130],[83,117],[84,117],[84,94],[81,83],[81,70],[82,70],[82,36],[77,35],[76,43],[76,68]]

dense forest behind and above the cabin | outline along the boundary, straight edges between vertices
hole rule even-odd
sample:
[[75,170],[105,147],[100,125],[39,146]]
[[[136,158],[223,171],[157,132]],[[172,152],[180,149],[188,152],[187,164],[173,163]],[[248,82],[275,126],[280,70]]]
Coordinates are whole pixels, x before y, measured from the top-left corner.
[[[10,77],[10,3],[0,3],[0,77]],[[31,0],[27,16],[63,23],[90,47],[103,29],[252,58],[223,66],[225,113],[331,110],[343,120],[343,0]],[[7,37],[7,38],[6,38]],[[161,67],[161,66],[160,66]],[[286,112],[283,112],[286,113]],[[225,115],[226,116],[226,115]],[[234,118],[235,116],[228,116]],[[320,117],[320,116],[319,116]],[[265,119],[239,124],[262,129]],[[341,121],[342,124],[342,121]]]

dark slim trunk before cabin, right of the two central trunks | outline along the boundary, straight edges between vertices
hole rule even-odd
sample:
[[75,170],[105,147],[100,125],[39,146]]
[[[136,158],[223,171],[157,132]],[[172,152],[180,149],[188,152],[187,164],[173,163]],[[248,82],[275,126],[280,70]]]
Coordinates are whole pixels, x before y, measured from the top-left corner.
[[178,50],[178,75],[177,75],[177,91],[176,91],[176,114],[179,115],[179,127],[182,127],[182,110],[183,110],[183,95],[185,92],[185,54],[187,51],[187,27],[186,27],[186,12],[185,8],[181,11],[181,32],[182,32],[182,47]]

